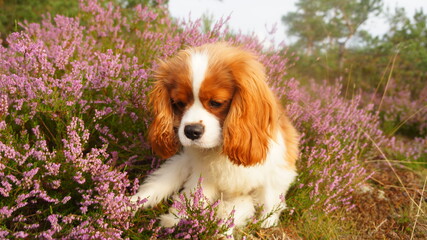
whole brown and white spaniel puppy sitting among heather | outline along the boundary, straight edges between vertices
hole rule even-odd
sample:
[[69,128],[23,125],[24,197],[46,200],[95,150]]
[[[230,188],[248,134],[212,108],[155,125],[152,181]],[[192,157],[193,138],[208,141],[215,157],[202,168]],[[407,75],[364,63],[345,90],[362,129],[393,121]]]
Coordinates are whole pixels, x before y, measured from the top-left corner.
[[[234,209],[235,225],[244,226],[259,206],[262,226],[276,225],[297,175],[299,137],[263,65],[242,48],[214,43],[161,62],[155,78],[148,138],[168,160],[131,201],[152,207],[201,184],[208,203],[221,200],[218,217]],[[179,222],[173,208],[160,219],[165,227]]]

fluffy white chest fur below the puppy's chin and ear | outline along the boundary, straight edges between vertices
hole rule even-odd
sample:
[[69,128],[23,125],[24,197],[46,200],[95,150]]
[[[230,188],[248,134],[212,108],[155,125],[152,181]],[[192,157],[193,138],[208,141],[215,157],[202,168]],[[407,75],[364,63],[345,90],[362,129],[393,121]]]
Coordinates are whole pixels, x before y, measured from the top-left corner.
[[203,181],[225,196],[258,195],[264,188],[286,191],[296,173],[285,161],[285,144],[278,134],[277,141],[270,141],[264,162],[254,166],[236,165],[221,154],[220,149],[199,150],[186,148],[184,155],[192,168],[190,178],[202,177]]

